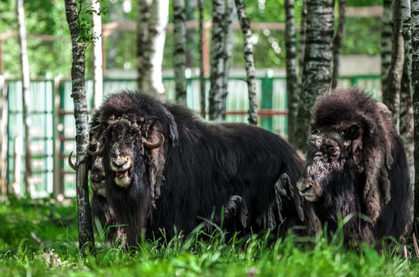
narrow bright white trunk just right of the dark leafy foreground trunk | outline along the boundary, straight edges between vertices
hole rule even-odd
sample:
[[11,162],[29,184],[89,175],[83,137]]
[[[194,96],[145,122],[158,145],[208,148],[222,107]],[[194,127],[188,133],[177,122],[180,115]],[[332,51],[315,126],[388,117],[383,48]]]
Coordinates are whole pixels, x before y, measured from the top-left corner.
[[[92,9],[99,11],[100,2],[92,1]],[[103,96],[103,72],[102,72],[102,17],[93,13],[93,33],[96,39],[93,43],[93,103],[95,109],[98,109],[102,103]]]

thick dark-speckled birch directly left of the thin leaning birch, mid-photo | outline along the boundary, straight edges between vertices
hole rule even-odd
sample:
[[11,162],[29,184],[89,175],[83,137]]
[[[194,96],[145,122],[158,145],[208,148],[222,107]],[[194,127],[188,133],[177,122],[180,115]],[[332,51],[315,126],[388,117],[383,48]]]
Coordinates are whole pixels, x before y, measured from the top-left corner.
[[225,120],[227,76],[231,56],[231,9],[229,0],[212,1],[210,120]]

